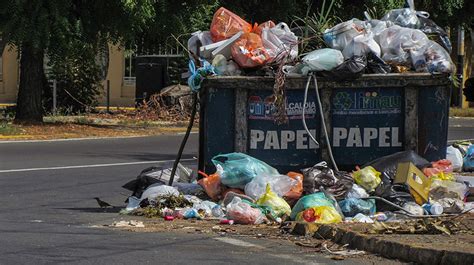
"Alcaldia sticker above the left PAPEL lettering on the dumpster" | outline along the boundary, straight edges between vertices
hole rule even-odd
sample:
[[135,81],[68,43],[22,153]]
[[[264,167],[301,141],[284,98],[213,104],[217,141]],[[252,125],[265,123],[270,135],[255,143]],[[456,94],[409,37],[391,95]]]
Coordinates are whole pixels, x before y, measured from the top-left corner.
[[[273,120],[276,108],[272,95],[262,98],[261,96],[250,96],[248,99],[248,114],[250,120]],[[286,100],[286,115],[288,119],[301,119],[303,115],[303,102],[292,102]],[[307,119],[314,118],[316,113],[316,103],[308,101],[305,105],[305,116]]]

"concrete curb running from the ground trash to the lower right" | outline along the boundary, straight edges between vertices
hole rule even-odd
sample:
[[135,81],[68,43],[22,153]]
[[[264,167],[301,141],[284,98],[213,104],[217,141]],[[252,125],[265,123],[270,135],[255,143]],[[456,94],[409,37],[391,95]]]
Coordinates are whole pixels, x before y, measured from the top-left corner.
[[414,247],[408,244],[371,237],[333,225],[297,223],[294,234],[329,239],[350,248],[379,254],[386,258],[426,265],[474,264],[474,253]]

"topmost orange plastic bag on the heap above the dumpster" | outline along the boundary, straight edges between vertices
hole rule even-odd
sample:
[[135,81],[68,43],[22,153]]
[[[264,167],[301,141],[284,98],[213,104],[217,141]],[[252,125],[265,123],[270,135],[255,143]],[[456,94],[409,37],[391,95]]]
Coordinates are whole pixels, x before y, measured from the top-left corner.
[[241,17],[221,7],[212,18],[211,37],[214,42],[228,39],[239,31],[250,32],[252,25]]

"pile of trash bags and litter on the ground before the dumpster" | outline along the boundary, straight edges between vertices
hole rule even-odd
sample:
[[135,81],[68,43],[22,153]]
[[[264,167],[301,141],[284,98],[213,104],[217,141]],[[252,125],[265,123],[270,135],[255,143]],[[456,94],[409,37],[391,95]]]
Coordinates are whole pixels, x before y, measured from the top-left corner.
[[474,170],[474,145],[448,147],[448,159],[428,162],[413,151],[381,157],[353,172],[326,162],[281,174],[243,153],[212,159],[213,174],[179,165],[149,168],[123,187],[131,190],[125,213],[165,220],[216,219],[222,224],[301,221],[319,224],[373,223],[470,211],[472,184],[455,172]]

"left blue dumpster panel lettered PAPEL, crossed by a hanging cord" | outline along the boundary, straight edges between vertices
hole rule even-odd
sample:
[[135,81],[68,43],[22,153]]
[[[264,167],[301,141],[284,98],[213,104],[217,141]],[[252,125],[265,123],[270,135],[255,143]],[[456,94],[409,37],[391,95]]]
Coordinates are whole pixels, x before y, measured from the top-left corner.
[[[249,90],[248,154],[286,173],[295,168],[314,165],[321,160],[318,146],[303,127],[304,90],[288,90],[286,102],[287,124],[274,120],[275,106],[271,90]],[[314,91],[308,93],[305,106],[306,123],[319,141],[320,117]]]

